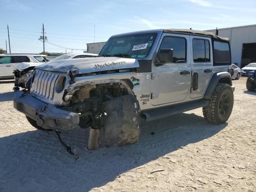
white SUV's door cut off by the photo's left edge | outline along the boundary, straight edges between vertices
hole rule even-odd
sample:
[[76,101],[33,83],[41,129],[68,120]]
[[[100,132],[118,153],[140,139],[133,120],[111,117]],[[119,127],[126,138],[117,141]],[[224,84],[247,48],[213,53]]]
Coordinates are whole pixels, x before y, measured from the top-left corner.
[[13,76],[14,57],[0,56],[0,77]]

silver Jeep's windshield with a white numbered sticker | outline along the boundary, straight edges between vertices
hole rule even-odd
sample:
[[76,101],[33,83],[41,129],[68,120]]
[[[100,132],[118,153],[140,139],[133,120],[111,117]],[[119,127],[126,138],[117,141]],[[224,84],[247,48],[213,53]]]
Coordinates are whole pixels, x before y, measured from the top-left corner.
[[110,38],[99,56],[145,58],[150,53],[157,33],[133,34]]

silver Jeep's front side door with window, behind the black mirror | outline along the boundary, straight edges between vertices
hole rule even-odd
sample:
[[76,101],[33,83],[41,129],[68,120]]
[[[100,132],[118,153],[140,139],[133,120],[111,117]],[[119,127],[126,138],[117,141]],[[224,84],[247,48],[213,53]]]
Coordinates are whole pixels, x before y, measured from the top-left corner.
[[152,105],[182,101],[190,90],[190,37],[163,34],[161,40],[158,50],[173,49],[173,61],[152,66]]

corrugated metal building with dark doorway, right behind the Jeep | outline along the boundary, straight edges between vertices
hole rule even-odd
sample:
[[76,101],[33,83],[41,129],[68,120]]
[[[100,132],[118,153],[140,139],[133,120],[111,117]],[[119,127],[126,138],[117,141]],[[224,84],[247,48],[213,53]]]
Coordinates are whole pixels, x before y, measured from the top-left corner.
[[218,36],[230,38],[232,63],[242,68],[256,62],[256,25],[218,29]]

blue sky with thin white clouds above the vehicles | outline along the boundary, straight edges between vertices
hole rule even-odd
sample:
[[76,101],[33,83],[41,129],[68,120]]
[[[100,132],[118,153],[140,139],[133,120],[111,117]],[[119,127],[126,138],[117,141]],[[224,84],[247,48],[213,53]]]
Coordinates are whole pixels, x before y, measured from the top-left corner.
[[[0,5],[0,48],[5,49],[6,39],[8,43],[8,24],[16,53],[42,52],[42,23],[50,43],[74,49],[94,42],[94,26],[95,42],[101,42],[138,30],[256,24],[256,0],[0,0]],[[45,50],[65,52],[49,43]]]

